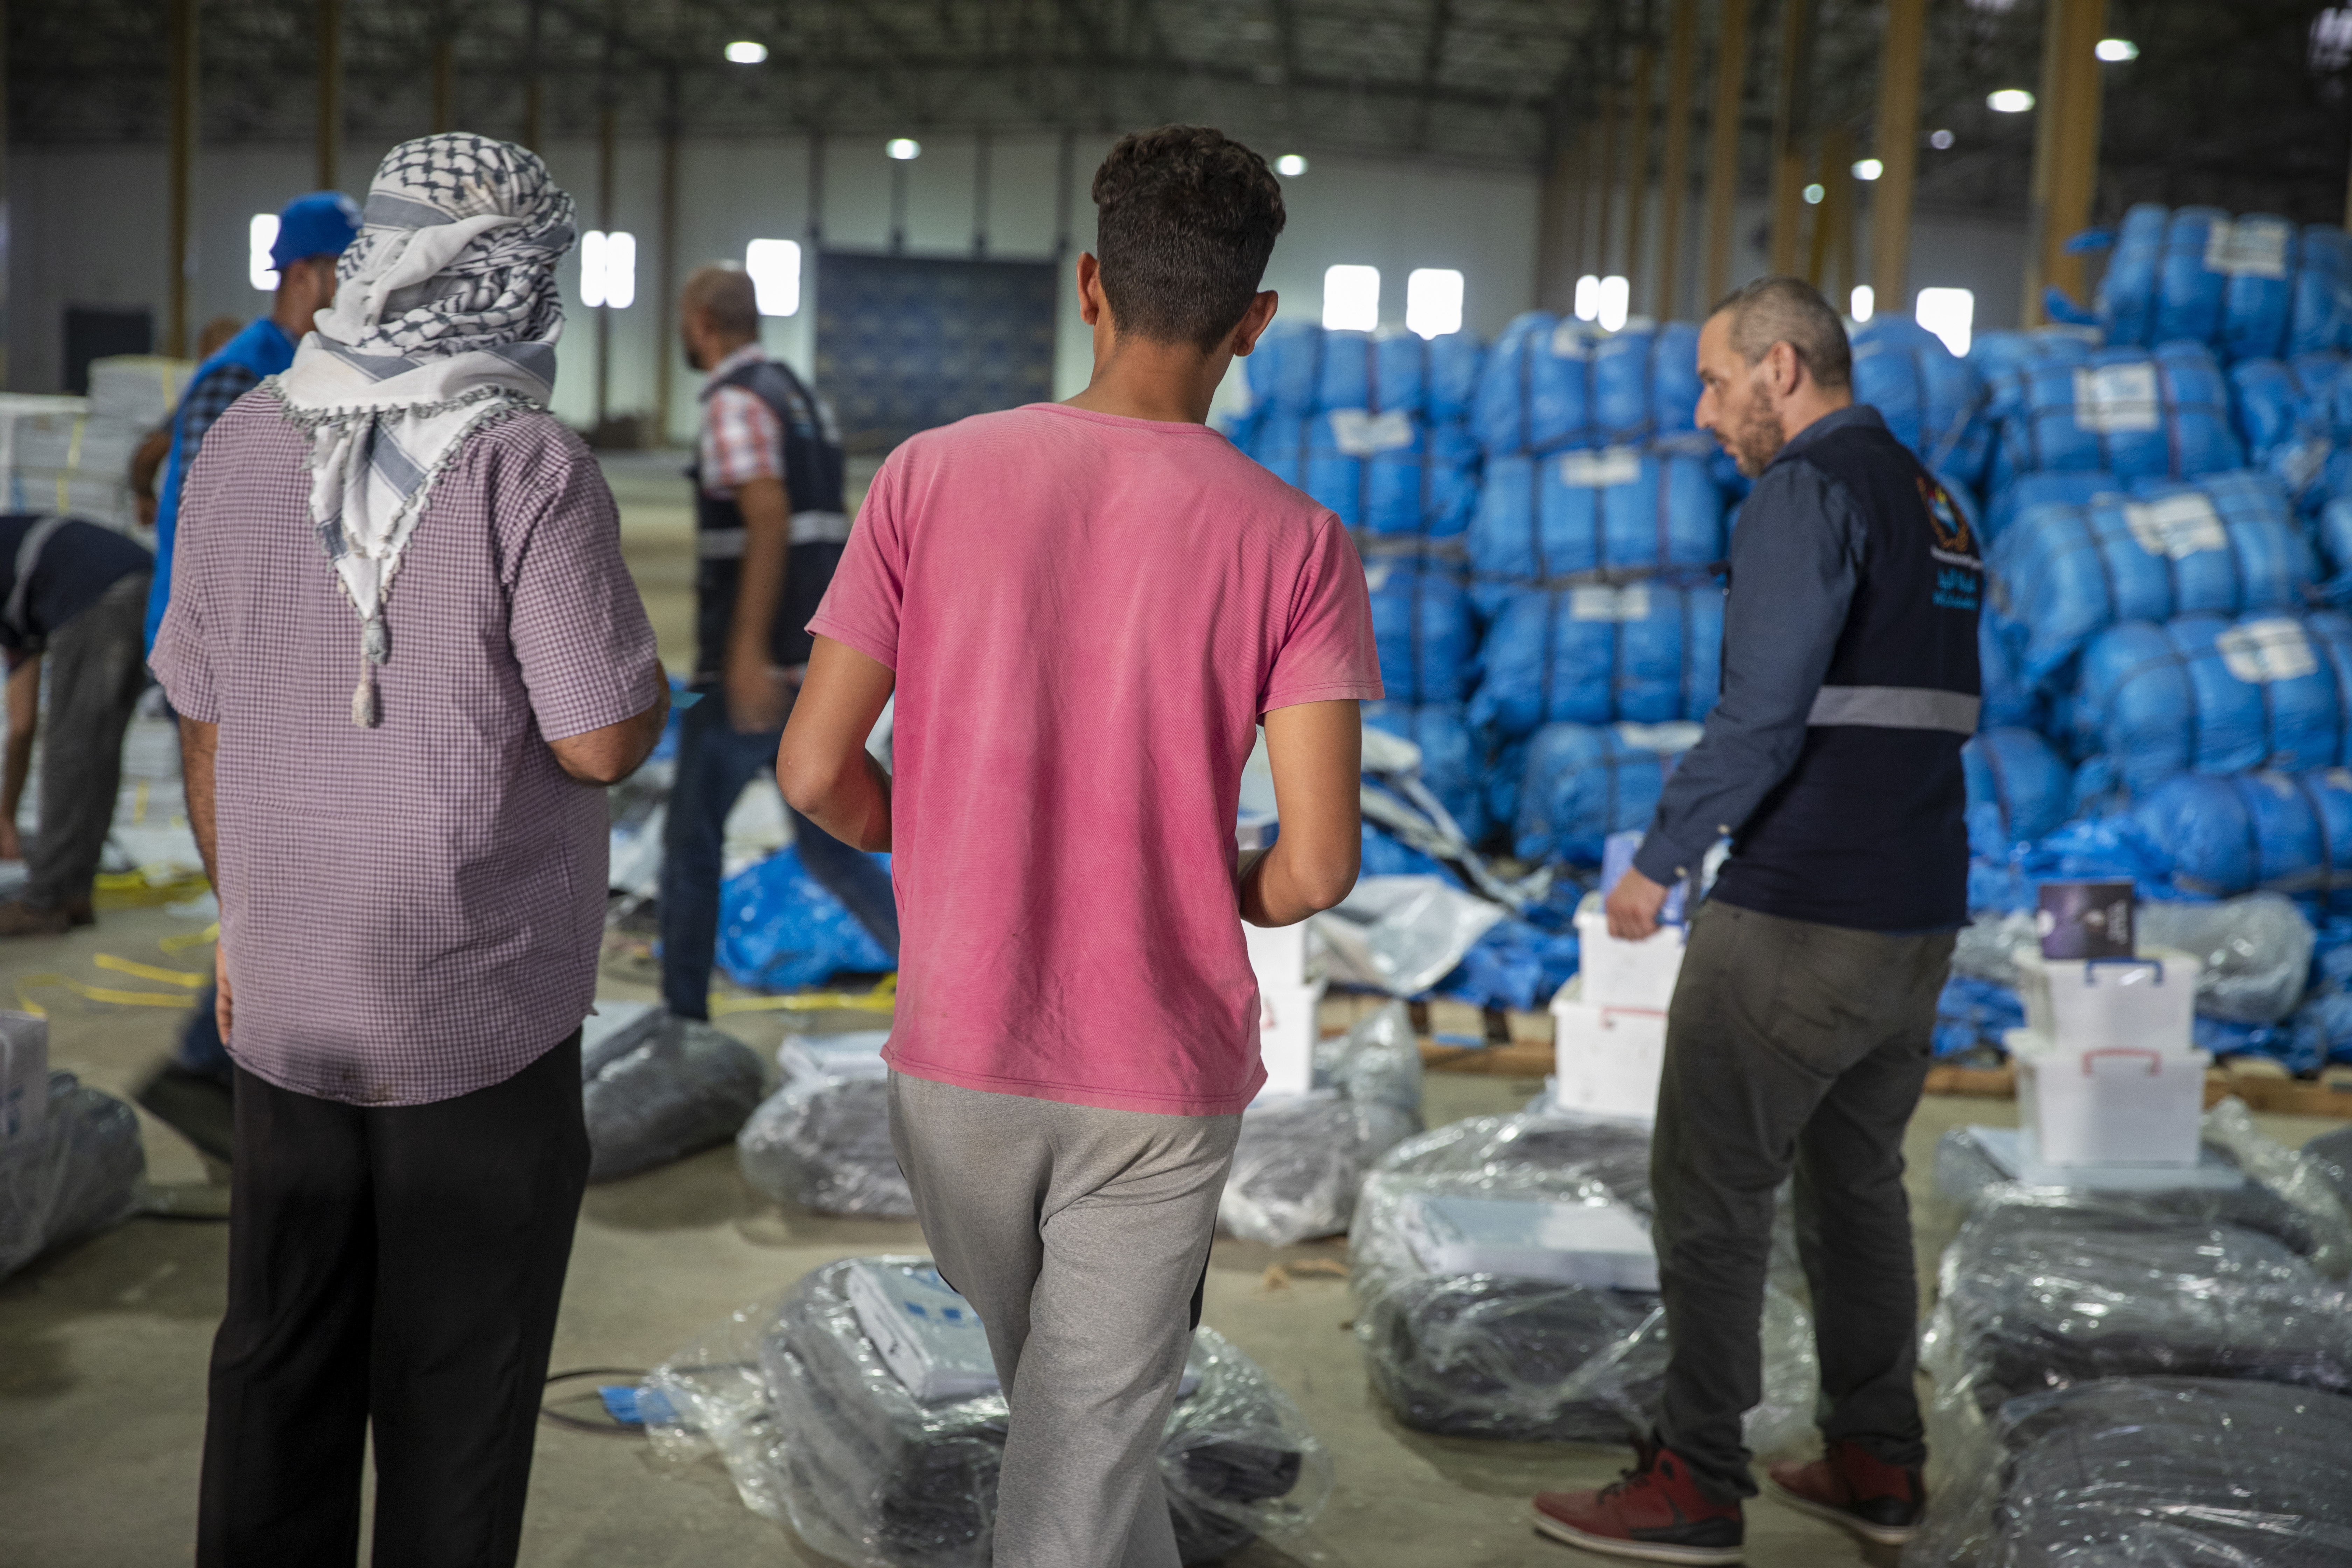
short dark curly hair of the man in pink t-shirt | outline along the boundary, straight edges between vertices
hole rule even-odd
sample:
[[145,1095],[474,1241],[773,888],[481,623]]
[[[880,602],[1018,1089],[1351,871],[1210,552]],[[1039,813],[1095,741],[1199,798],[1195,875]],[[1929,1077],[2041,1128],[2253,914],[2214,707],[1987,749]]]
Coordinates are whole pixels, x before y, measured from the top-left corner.
[[1282,186],[1204,125],[1131,132],[1094,172],[1094,254],[1120,331],[1214,353],[1265,277]]

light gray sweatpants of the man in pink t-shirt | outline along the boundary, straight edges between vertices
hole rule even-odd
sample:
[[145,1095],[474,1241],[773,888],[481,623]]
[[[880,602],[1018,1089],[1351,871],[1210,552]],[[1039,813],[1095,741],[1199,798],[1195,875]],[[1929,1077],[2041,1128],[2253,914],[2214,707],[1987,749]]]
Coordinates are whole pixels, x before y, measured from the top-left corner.
[[995,1568],[1178,1568],[1160,1432],[1240,1131],[891,1074],[922,1234],[1011,1406]]

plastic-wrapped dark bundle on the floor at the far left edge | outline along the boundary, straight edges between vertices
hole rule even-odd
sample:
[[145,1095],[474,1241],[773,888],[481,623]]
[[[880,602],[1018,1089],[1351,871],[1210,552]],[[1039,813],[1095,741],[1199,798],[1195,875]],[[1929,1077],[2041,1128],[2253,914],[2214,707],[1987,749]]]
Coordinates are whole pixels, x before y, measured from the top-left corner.
[[0,1159],[0,1279],[134,1215],[143,1180],[139,1112],[52,1072],[42,1143]]

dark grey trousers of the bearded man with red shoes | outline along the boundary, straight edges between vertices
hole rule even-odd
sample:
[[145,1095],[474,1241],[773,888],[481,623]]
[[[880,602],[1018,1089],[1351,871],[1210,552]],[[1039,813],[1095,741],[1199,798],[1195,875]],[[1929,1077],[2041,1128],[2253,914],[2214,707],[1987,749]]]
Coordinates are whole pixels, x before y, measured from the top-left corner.
[[1651,1145],[1672,1356],[1661,1439],[1719,1500],[1755,1493],[1773,1194],[1797,1178],[1820,1432],[1926,1458],[1903,1128],[1926,1084],[1952,933],[1884,936],[1708,903],[1665,1025]]

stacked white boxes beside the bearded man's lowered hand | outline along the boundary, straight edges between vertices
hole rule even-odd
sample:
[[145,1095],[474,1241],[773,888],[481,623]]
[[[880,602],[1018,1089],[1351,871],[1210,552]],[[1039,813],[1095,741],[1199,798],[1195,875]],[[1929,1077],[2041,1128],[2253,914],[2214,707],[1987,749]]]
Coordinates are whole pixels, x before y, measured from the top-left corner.
[[1665,1011],[1682,976],[1682,926],[1639,943],[1609,936],[1599,896],[1576,910],[1578,976],[1552,997],[1552,1103],[1653,1121],[1665,1072]]

